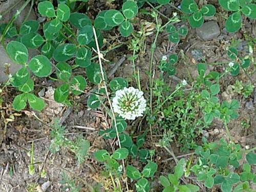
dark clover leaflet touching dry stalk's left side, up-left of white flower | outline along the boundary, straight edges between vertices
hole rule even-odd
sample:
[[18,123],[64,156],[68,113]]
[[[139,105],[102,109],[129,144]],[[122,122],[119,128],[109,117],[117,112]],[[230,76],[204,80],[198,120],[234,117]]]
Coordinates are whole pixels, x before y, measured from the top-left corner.
[[100,83],[101,72],[100,72],[100,66],[98,63],[91,63],[91,65],[86,68],[86,74],[90,82],[95,84]]

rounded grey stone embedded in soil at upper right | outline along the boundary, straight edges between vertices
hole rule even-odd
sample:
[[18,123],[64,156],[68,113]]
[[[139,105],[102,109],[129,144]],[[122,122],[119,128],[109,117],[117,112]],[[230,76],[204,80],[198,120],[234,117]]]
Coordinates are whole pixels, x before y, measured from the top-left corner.
[[200,28],[196,29],[197,35],[204,41],[217,38],[221,31],[217,22],[211,20],[205,22]]

